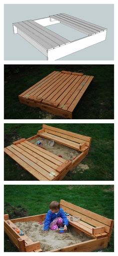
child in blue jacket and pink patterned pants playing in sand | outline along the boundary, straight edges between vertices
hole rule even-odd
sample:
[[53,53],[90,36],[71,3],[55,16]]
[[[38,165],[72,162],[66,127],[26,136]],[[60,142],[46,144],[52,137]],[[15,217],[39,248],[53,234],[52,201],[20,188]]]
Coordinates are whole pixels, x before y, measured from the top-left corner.
[[49,210],[44,220],[43,230],[47,232],[48,228],[51,230],[57,230],[59,226],[64,225],[64,229],[67,230],[68,219],[64,214],[60,204],[56,201],[52,201],[49,204]]

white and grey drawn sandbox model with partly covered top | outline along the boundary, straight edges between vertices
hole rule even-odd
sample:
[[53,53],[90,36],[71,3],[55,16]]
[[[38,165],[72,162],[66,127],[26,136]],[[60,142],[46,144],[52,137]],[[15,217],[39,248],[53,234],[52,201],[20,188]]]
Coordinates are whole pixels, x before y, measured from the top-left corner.
[[[69,41],[56,33],[50,32],[46,26],[62,23],[67,27],[84,33],[80,39]],[[68,14],[56,14],[46,18],[13,23],[13,33],[19,34],[38,51],[46,60],[60,59],[79,50],[100,43],[106,39],[107,29],[77,19]],[[45,36],[46,35],[46,36]]]

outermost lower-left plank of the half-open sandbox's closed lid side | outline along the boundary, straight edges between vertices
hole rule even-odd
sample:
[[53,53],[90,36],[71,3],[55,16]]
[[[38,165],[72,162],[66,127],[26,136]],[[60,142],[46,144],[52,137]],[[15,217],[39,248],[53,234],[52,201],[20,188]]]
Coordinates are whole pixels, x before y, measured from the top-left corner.
[[36,169],[34,169],[32,166],[27,164],[24,160],[20,159],[20,157],[17,157],[14,153],[12,153],[8,148],[4,149],[4,152],[9,155],[14,161],[16,161],[21,167],[23,167],[26,171],[31,173],[35,178],[38,180],[48,180],[44,175],[39,173]]

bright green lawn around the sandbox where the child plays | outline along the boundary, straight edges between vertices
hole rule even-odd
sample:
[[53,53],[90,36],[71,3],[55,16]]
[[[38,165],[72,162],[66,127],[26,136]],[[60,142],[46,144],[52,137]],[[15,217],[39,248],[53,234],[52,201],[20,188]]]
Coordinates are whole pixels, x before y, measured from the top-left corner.
[[[4,185],[4,213],[10,218],[19,217],[17,209],[21,208],[25,216],[42,214],[52,200],[64,199],[113,219],[113,194],[112,185]],[[6,234],[4,251],[17,251]],[[113,251],[113,232],[103,251]]]

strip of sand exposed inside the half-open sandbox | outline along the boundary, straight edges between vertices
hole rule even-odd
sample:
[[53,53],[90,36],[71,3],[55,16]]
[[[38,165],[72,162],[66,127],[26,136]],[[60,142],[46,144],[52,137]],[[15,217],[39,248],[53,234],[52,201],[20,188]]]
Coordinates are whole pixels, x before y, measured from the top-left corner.
[[60,155],[62,156],[62,158],[66,159],[66,160],[72,160],[73,157],[78,156],[80,154],[79,151],[74,150],[72,148],[60,145],[56,142],[54,142],[54,145],[51,146],[50,145],[50,140],[45,139],[45,138],[41,138],[41,137],[37,137],[35,139],[30,140],[30,142],[32,144],[37,143],[37,141],[40,140],[40,142],[42,143],[42,147],[45,148],[46,150],[48,150],[49,152],[55,154],[55,155]]

